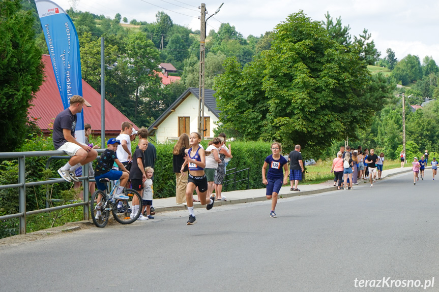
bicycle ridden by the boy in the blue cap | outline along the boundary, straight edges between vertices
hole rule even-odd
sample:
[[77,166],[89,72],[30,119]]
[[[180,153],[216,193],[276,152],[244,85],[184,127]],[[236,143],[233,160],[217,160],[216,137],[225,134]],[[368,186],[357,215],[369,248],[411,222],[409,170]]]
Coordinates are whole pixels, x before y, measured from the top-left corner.
[[[106,190],[103,191],[98,189],[93,193],[90,201],[90,211],[92,214],[93,223],[95,223],[97,227],[105,227],[105,225],[108,223],[108,219],[110,218],[110,211],[113,215],[113,218],[121,224],[130,224],[137,220],[141,213],[140,211],[142,210],[142,197],[140,194],[134,189],[125,188],[123,194],[128,196],[129,199],[114,199],[114,194],[120,185],[120,180],[116,181],[111,191],[108,191],[109,179],[102,178],[99,180],[99,182],[105,184]],[[131,216],[133,198],[138,199],[140,211],[134,216]],[[122,205],[119,203],[122,203]]]

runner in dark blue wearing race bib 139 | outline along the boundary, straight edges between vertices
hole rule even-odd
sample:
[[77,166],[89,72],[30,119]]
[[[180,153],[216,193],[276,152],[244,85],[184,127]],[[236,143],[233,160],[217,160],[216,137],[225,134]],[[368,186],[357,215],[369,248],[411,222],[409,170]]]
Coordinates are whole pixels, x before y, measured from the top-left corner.
[[[280,155],[282,151],[282,146],[278,142],[273,142],[271,144],[271,152],[273,154],[267,156],[264,161],[264,166],[262,166],[262,183],[267,185],[266,196],[267,199],[272,199],[271,202],[271,212],[270,217],[275,218],[277,204],[277,195],[279,194],[280,187],[282,184],[286,184],[288,177],[288,161]],[[270,166],[267,173],[267,178],[265,177],[267,166]],[[283,168],[283,175],[282,175]],[[283,180],[282,180],[283,178]]]

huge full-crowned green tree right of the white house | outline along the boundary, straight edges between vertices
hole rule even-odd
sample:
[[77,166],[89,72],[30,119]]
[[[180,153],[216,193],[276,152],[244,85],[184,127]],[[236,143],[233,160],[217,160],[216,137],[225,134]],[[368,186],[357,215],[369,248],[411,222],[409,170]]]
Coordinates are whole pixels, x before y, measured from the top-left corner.
[[261,59],[243,70],[235,62],[216,82],[221,122],[243,138],[278,140],[286,149],[301,144],[319,152],[333,139],[355,138],[391,96],[386,78],[372,77],[359,51],[346,51],[303,12],[276,26]]

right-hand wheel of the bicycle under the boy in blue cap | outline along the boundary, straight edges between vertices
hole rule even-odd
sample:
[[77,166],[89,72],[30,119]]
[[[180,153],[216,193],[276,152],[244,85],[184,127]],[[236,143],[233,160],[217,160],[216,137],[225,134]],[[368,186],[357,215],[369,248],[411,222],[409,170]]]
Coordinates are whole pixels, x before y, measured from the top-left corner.
[[[118,221],[121,224],[130,224],[137,220],[139,217],[141,211],[142,211],[142,197],[140,197],[140,194],[131,188],[126,188],[124,192],[125,196],[128,196],[128,200],[117,200],[113,208],[111,209],[111,212],[113,213],[113,217],[116,221]],[[137,214],[131,216],[131,208],[133,206],[133,201],[138,202],[139,205],[139,212]],[[121,204],[120,204],[121,203]]]

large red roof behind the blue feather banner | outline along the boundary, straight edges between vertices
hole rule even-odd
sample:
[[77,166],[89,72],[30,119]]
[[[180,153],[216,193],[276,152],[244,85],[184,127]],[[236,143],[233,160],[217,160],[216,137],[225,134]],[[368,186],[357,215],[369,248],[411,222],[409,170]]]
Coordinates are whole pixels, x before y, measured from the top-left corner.
[[[38,118],[36,121],[38,127],[44,133],[48,133],[48,129],[53,128],[53,121],[58,113],[64,110],[61,101],[60,91],[56,85],[55,75],[53,73],[52,62],[49,55],[43,55],[44,63],[44,81],[40,86],[40,90],[35,94],[32,106],[29,109],[28,117]],[[85,99],[84,123],[92,125],[94,134],[101,134],[101,94],[93,89],[88,83],[82,80],[82,95]],[[121,132],[121,124],[130,121],[112,104],[105,100],[105,134],[118,135]],[[135,129],[138,129],[134,125]]]

